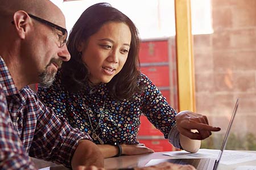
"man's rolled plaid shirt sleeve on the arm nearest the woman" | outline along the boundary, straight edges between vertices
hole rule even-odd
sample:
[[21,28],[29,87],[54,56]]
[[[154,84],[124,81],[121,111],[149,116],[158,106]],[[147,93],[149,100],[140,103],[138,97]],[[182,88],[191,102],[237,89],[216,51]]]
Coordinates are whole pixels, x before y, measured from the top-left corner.
[[47,108],[38,100],[35,94],[32,96],[38,107],[36,110],[39,117],[29,151],[30,156],[57,162],[71,168],[71,159],[78,142],[81,139],[90,139],[89,135],[72,128],[65,118],[56,116],[52,109]]

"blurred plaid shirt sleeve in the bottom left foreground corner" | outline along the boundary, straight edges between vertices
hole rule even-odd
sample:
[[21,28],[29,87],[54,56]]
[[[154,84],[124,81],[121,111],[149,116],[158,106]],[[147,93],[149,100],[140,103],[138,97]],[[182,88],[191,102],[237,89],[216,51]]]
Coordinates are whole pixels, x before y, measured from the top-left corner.
[[36,169],[14,130],[2,91],[0,92],[0,169]]

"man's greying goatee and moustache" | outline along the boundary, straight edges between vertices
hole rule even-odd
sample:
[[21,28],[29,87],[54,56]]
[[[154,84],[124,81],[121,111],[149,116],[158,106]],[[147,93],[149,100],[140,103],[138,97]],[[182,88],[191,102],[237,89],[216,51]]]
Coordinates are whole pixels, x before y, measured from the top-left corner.
[[56,71],[47,70],[48,66],[51,65],[51,63],[55,63],[59,68],[61,67],[61,59],[55,59],[52,58],[51,61],[46,66],[46,69],[42,73],[39,74],[39,86],[40,87],[49,87],[52,85],[52,83],[55,80]]

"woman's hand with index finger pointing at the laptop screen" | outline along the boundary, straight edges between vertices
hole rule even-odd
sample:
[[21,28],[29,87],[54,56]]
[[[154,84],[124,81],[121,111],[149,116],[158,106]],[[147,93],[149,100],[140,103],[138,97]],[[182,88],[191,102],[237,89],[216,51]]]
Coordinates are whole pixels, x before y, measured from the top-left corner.
[[190,139],[203,140],[208,138],[212,131],[221,130],[220,128],[210,126],[206,116],[190,111],[179,112],[175,119],[177,130],[179,130],[180,134]]

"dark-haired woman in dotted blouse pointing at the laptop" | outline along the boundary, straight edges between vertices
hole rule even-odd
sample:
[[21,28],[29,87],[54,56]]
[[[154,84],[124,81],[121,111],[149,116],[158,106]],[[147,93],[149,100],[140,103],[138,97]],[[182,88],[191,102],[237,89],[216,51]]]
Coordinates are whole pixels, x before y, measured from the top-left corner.
[[205,139],[220,130],[209,126],[201,114],[176,114],[138,70],[134,23],[108,3],[82,13],[67,46],[71,60],[63,63],[51,87],[39,88],[39,97],[72,126],[89,133],[105,158],[152,152],[137,140],[142,113],[172,145],[190,152],[200,147],[200,141],[191,139]]

